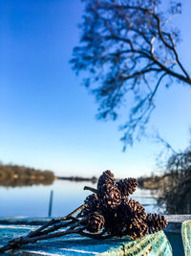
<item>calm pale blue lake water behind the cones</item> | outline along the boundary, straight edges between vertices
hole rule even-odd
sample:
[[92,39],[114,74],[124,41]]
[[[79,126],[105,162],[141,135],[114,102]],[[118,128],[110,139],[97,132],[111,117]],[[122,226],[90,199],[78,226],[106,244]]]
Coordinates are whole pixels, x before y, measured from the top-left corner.
[[[91,194],[84,191],[85,185],[96,187],[87,182],[55,180],[52,185],[33,185],[30,187],[0,187],[0,217],[47,217],[50,193],[53,190],[53,217],[65,216],[83,203]],[[149,190],[138,189],[133,195],[145,206],[146,212],[159,209],[156,197]]]

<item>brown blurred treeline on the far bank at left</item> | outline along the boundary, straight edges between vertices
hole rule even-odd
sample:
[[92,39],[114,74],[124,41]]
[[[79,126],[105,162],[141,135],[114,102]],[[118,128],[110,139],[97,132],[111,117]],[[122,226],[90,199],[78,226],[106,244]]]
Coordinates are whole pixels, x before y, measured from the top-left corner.
[[49,185],[53,183],[54,178],[55,176],[51,171],[41,171],[25,166],[4,165],[0,163],[0,186]]

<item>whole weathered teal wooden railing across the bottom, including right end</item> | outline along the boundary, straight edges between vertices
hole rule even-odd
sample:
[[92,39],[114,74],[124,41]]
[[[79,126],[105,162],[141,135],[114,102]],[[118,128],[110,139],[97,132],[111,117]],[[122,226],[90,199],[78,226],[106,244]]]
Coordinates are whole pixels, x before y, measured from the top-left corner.
[[[148,235],[138,241],[128,238],[96,241],[69,235],[36,244],[28,244],[14,255],[191,255],[191,215],[166,216],[169,224],[163,231]],[[0,246],[16,236],[25,236],[37,225],[50,219],[0,219]],[[183,252],[184,251],[184,252]],[[7,254],[5,254],[7,255]]]

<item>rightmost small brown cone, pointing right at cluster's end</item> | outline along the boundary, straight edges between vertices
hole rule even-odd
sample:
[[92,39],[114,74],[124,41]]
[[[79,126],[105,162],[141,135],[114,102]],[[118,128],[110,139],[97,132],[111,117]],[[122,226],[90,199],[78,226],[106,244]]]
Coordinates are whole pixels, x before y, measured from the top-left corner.
[[164,216],[159,214],[148,214],[146,217],[146,223],[149,227],[149,233],[155,233],[162,228],[165,228],[168,224]]

